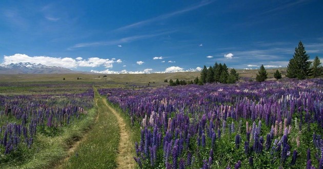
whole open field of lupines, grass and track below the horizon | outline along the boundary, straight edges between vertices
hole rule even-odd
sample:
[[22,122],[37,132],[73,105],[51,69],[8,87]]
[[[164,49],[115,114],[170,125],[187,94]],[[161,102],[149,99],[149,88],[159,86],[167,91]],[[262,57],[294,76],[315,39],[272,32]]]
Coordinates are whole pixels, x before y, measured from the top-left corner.
[[257,70],[238,72],[236,84],[176,87],[164,79],[199,72],[1,75],[0,166],[321,165],[322,79],[259,83]]

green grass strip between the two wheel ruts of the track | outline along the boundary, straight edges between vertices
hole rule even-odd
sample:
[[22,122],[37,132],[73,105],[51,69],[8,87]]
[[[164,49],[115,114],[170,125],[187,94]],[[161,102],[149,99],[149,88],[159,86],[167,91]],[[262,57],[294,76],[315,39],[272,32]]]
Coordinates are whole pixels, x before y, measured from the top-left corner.
[[70,159],[62,168],[115,168],[119,144],[117,119],[104,105],[104,100],[95,91],[98,118],[86,138],[81,141]]

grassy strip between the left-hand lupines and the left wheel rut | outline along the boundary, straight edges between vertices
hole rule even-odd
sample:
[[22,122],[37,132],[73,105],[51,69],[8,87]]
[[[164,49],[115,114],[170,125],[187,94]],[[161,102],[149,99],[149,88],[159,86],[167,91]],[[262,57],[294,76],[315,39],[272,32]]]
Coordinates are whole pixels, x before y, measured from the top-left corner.
[[38,133],[31,150],[18,151],[18,156],[0,163],[0,168],[52,168],[57,161],[67,157],[69,147],[90,129],[96,112],[96,109],[89,110],[83,119],[62,127],[57,136],[48,137]]

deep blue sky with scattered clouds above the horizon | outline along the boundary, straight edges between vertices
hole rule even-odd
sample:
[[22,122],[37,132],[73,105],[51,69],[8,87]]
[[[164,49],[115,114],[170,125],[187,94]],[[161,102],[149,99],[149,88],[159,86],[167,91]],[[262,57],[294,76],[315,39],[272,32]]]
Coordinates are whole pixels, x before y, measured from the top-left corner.
[[[286,67],[323,58],[323,1],[1,1],[0,63],[79,71]],[[323,60],[322,60],[323,62]]]

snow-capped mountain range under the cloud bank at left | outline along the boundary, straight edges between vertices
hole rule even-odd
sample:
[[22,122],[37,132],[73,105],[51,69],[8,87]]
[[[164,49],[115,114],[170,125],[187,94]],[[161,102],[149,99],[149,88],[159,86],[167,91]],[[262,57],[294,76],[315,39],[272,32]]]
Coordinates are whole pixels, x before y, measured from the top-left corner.
[[63,74],[79,73],[70,69],[20,62],[18,64],[0,65],[0,74]]

